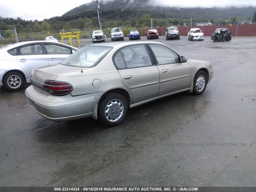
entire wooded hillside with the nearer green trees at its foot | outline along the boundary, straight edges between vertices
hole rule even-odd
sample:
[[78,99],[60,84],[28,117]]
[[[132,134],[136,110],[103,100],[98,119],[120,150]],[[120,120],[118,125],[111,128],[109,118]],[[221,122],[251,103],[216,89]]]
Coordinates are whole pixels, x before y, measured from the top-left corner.
[[[184,23],[211,22],[212,24],[230,24],[239,21],[251,21],[256,7],[229,8],[174,8],[150,4],[151,0],[103,0],[99,2],[102,28],[129,26],[132,28],[153,26],[183,26]],[[96,2],[76,7],[62,16],[43,21],[23,20],[22,18],[1,18],[0,31],[17,28],[18,33],[41,32],[68,29],[98,28]]]

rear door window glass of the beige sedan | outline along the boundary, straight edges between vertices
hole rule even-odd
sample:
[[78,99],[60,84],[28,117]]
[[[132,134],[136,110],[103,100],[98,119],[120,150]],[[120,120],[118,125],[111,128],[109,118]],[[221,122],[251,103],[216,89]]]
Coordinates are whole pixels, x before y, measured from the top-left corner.
[[[124,60],[124,63],[121,61]],[[114,62],[117,67],[122,66],[124,64],[127,68],[135,68],[135,67],[144,67],[151,66],[152,62],[148,55],[148,51],[144,45],[134,45],[122,48],[120,50],[120,54],[116,54],[114,57]],[[118,66],[119,65],[119,66]]]

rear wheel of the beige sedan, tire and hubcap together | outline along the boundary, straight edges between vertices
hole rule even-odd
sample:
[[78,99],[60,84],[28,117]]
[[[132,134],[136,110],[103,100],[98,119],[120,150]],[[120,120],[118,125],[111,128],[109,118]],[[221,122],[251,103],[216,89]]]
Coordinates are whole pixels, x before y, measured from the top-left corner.
[[119,93],[109,93],[100,99],[98,117],[103,125],[113,127],[124,120],[127,109],[128,104],[124,96]]

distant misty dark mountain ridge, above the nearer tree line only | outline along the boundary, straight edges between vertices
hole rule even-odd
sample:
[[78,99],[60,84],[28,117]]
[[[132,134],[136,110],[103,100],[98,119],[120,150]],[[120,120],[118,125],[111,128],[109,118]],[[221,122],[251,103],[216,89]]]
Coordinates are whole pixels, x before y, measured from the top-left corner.
[[[154,5],[152,0],[103,0],[98,2],[100,5],[100,17],[106,20],[126,21],[132,18],[139,18],[144,14],[149,14],[151,18],[166,19],[230,19],[233,16],[240,20],[250,20],[256,10],[256,7],[228,7],[228,8],[180,8]],[[76,7],[66,12],[61,17],[51,19],[60,19],[63,21],[76,20],[78,18],[97,17],[97,4],[90,2]],[[50,20],[51,20],[50,19]]]

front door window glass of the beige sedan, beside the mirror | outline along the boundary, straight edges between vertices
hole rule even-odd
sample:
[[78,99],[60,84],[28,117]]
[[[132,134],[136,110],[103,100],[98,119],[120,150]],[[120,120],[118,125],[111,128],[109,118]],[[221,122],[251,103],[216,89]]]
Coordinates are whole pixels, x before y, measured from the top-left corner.
[[158,65],[178,63],[179,57],[172,50],[162,45],[150,44],[150,48],[154,52]]

